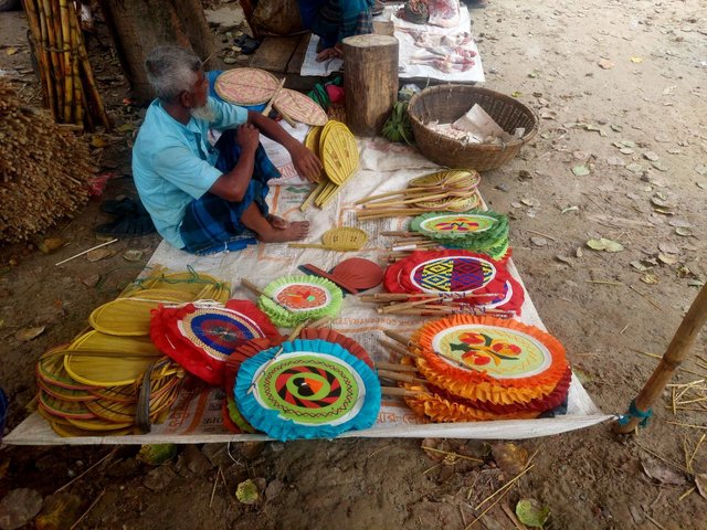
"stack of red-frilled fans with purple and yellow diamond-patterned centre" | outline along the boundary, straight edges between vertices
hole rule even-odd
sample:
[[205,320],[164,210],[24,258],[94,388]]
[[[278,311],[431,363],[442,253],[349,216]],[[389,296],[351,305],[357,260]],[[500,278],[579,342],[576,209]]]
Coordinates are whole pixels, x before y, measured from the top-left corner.
[[520,315],[525,290],[508,272],[508,255],[496,261],[468,251],[422,251],[386,269],[388,293],[439,295],[458,312]]

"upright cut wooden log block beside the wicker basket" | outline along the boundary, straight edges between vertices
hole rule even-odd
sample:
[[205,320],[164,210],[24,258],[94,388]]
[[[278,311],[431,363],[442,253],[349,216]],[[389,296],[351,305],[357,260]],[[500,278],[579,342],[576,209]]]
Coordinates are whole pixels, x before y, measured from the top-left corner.
[[346,121],[355,135],[380,134],[398,100],[398,47],[390,35],[342,41]]

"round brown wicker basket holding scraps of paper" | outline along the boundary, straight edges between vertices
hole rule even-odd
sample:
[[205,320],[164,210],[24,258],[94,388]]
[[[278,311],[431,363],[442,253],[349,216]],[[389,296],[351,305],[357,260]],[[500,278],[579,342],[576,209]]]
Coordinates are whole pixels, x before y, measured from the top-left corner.
[[[526,129],[523,138],[504,145],[463,144],[425,124],[451,124],[478,103],[507,132]],[[415,94],[408,107],[415,142],[430,160],[453,169],[487,171],[511,160],[538,131],[538,117],[513,97],[467,85],[439,85]]]

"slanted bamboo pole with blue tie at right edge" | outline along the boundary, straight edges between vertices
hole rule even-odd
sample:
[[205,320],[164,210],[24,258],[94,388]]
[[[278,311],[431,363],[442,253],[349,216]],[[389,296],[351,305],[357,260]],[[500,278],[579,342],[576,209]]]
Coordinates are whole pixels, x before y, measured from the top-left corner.
[[[701,288],[697,298],[693,301],[683,322],[679,328],[677,328],[671,344],[663,354],[661,363],[656,367],[651,379],[646,381],[634,400],[639,411],[647,411],[661,396],[665,385],[673,378],[673,374],[685,360],[687,353],[689,353],[705,321],[707,321],[707,285]],[[629,422],[624,424],[614,423],[614,432],[620,434],[631,433],[635,430],[640,421],[640,417],[631,416]]]

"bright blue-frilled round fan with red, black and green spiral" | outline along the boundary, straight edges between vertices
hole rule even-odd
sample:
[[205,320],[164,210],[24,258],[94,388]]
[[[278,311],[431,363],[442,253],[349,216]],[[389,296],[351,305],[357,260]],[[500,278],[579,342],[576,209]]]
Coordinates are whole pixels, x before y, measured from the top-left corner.
[[281,348],[249,359],[238,374],[235,401],[255,428],[287,441],[331,438],[376,423],[380,384],[366,363],[324,340]]

